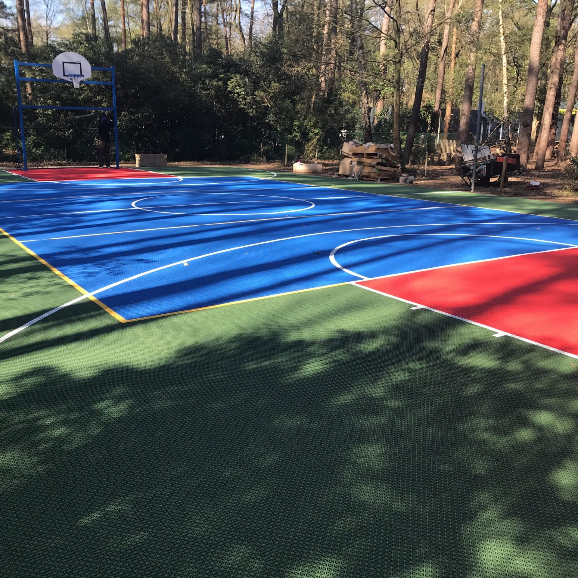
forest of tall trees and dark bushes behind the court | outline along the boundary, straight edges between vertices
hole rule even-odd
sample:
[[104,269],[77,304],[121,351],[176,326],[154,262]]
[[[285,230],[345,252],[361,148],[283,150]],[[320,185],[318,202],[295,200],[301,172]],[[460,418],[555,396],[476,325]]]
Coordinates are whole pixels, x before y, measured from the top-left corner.
[[[486,114],[521,122],[523,165],[537,139],[539,168],[554,154],[555,127],[564,118],[568,139],[574,120],[565,102],[576,99],[577,15],[574,0],[0,0],[0,127],[14,132],[13,59],[73,50],[116,67],[118,126],[135,147],[144,131],[149,140],[172,131],[197,147],[218,140],[239,160],[283,144],[290,156],[334,158],[357,136],[391,139],[409,162],[416,134],[471,140],[483,62]],[[108,106],[98,88],[35,85],[27,97]],[[92,125],[66,114],[28,121]]]

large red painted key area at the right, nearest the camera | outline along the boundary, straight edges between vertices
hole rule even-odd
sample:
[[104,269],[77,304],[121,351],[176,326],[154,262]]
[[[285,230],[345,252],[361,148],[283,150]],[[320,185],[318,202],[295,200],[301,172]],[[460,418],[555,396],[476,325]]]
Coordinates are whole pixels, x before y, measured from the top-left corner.
[[455,265],[358,284],[578,355],[578,249]]

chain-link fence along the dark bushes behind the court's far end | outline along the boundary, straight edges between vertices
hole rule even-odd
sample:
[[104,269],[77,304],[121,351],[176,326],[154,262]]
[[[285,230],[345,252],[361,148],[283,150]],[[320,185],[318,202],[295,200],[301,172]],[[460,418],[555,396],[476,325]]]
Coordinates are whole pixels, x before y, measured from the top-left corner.
[[[299,159],[336,161],[340,143],[361,135],[343,134],[335,143],[316,147],[299,136],[277,131],[197,131],[191,129],[119,128],[118,154],[121,162],[134,163],[135,153],[164,153],[169,162],[286,162]],[[405,146],[402,134],[402,147]],[[446,138],[444,138],[446,137]],[[425,154],[439,153],[441,162],[453,157],[457,135],[416,135],[412,163],[422,164]],[[32,126],[26,128],[28,164],[75,165],[96,164],[97,129]],[[393,142],[391,133],[376,133],[373,142]],[[21,162],[20,131],[0,127],[0,162]]]

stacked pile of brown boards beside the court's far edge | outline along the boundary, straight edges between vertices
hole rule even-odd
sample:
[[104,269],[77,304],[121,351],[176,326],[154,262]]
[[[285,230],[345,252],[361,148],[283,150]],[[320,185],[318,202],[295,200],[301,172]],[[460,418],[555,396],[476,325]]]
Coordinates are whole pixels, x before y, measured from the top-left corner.
[[393,144],[343,143],[339,157],[339,177],[357,180],[394,181],[401,176],[399,158]]

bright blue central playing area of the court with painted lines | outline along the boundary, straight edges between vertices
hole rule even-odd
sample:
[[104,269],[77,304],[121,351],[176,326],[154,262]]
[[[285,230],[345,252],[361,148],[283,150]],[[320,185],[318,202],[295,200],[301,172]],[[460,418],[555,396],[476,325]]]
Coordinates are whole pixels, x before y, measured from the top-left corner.
[[0,227],[125,320],[578,245],[575,221],[253,177],[1,195]]

